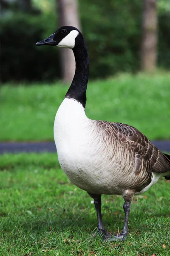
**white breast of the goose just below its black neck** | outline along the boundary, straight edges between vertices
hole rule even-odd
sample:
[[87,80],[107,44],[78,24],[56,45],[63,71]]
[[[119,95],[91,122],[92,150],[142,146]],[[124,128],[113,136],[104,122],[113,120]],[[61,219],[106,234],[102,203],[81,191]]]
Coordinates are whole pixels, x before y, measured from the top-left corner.
[[54,140],[59,163],[66,175],[75,176],[84,164],[90,141],[91,120],[85,115],[82,105],[74,99],[65,98],[54,122]]

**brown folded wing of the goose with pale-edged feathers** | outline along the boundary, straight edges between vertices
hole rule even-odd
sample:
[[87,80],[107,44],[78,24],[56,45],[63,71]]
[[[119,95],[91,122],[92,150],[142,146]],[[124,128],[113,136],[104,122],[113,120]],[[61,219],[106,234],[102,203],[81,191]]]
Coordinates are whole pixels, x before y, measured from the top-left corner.
[[[170,171],[170,160],[139,130],[130,125],[122,123],[109,123],[110,129],[119,137],[122,143],[126,143],[134,150],[138,158],[138,164],[146,163],[152,172],[164,173]],[[138,166],[136,166],[138,169]]]

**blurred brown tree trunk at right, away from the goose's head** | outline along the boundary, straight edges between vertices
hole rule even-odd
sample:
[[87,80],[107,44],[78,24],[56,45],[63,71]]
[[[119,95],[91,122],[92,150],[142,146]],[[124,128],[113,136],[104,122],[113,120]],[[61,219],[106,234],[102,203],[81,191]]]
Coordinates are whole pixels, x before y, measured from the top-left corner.
[[142,20],[141,69],[153,73],[157,55],[157,0],[144,0]]

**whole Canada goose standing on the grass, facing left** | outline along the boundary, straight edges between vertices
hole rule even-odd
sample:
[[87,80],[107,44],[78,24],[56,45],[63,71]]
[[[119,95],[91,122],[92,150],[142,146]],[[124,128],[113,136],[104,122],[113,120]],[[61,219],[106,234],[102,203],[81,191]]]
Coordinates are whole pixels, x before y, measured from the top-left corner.
[[[89,57],[77,28],[63,26],[36,45],[70,48],[74,52],[74,79],[54,122],[58,160],[69,180],[94,198],[98,232],[103,240],[122,241],[127,238],[133,196],[147,191],[161,176],[170,179],[170,156],[132,126],[91,120],[85,115]],[[118,236],[110,236],[103,224],[102,194],[122,195],[125,200],[125,224]]]

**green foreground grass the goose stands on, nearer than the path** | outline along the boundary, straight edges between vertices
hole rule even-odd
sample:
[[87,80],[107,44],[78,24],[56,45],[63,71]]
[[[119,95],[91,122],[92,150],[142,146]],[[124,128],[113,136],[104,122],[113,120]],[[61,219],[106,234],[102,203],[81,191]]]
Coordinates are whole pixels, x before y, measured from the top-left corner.
[[[0,156],[0,255],[169,256],[170,183],[164,179],[134,197],[124,242],[94,237],[91,198],[62,172],[57,154]],[[102,196],[106,228],[123,227],[123,199]]]

